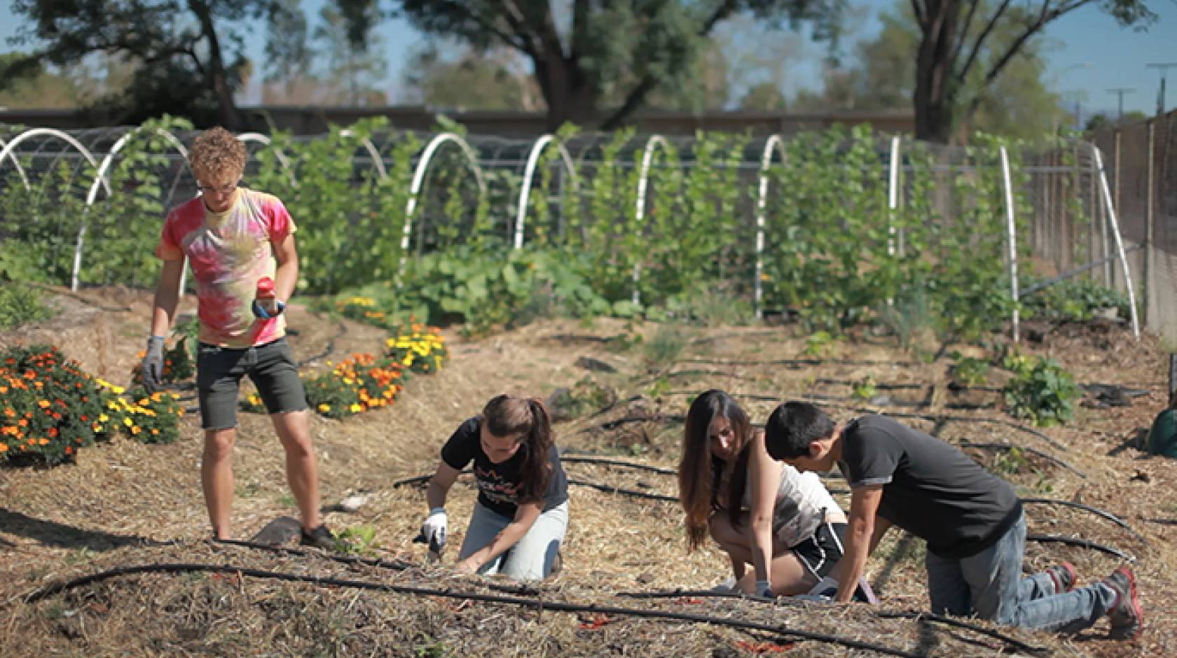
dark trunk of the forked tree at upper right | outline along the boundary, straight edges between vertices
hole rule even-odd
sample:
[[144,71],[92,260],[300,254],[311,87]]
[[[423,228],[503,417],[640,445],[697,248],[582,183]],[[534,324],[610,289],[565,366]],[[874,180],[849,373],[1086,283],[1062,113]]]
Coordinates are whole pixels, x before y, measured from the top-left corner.
[[920,41],[916,53],[916,139],[946,143],[952,135],[956,100],[956,28],[959,6],[956,0],[930,1],[919,21]]

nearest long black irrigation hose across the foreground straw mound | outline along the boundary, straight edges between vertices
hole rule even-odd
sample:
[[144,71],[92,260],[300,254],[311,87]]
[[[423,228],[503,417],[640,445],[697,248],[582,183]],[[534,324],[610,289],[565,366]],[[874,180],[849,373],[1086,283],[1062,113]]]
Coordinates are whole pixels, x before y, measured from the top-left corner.
[[51,596],[81,588],[85,585],[91,585],[102,580],[108,580],[118,576],[131,576],[137,573],[191,573],[191,572],[205,572],[205,573],[235,573],[239,577],[250,576],[251,578],[271,579],[271,580],[284,580],[290,583],[307,583],[319,586],[337,586],[337,588],[353,588],[359,590],[372,590],[383,592],[395,592],[401,595],[414,595],[414,596],[437,596],[445,598],[458,598],[466,600],[478,600],[484,603],[498,603],[504,605],[518,605],[523,607],[534,609],[537,612],[543,612],[545,610],[553,612],[586,612],[592,615],[613,615],[613,616],[627,616],[627,617],[645,617],[651,619],[671,619],[677,622],[692,622],[701,624],[712,624],[717,626],[729,626],[733,629],[762,631],[769,633],[776,633],[784,638],[799,638],[805,640],[823,642],[826,644],[836,644],[840,646],[846,646],[850,649],[862,649],[869,651],[876,651],[884,653],[886,656],[899,656],[902,658],[919,658],[919,654],[903,651],[900,649],[892,649],[889,646],[882,646],[877,644],[871,644],[866,642],[859,642],[850,638],[843,638],[838,636],[829,636],[823,633],[814,633],[810,631],[802,631],[796,629],[789,629],[786,626],[772,626],[769,624],[760,624],[757,622],[745,622],[742,619],[725,619],[723,617],[707,617],[704,615],[690,615],[686,612],[670,612],[665,610],[641,610],[634,607],[617,607],[609,605],[583,605],[572,603],[559,603],[541,600],[538,598],[519,598],[510,596],[497,596],[497,595],[481,595],[474,592],[460,592],[453,590],[439,590],[434,588],[414,588],[408,585],[388,585],[384,583],[372,583],[367,580],[350,580],[343,578],[322,578],[319,576],[302,576],[298,573],[286,573],[280,571],[265,571],[261,569],[246,569],[233,566],[231,564],[197,564],[197,563],[161,563],[161,564],[139,564],[131,566],[121,566],[119,569],[112,569],[109,571],[102,571],[100,573],[92,573],[89,576],[82,576],[80,578],[74,578],[73,580],[67,580],[64,583],[56,583],[48,585],[35,592],[29,593],[25,597],[26,603],[35,603],[46,599]]

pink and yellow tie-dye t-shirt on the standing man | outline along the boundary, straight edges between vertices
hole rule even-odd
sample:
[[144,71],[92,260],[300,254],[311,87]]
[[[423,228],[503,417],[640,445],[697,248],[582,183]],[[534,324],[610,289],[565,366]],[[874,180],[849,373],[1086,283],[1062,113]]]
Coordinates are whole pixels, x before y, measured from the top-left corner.
[[273,195],[238,188],[224,213],[205,208],[199,196],[167,214],[155,255],[188,257],[197,287],[202,343],[248,348],[286,334],[284,315],[258,320],[250,309],[258,280],[273,277],[271,242],[294,233],[294,221]]

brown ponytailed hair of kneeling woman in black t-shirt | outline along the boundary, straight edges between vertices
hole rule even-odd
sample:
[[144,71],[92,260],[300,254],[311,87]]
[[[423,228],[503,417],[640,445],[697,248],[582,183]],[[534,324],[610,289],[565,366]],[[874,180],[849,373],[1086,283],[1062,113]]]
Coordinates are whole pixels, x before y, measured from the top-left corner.
[[483,422],[493,436],[521,434],[519,450],[519,501],[532,503],[544,497],[552,466],[547,452],[552,448],[552,421],[544,403],[534,397],[498,395],[483,408]]

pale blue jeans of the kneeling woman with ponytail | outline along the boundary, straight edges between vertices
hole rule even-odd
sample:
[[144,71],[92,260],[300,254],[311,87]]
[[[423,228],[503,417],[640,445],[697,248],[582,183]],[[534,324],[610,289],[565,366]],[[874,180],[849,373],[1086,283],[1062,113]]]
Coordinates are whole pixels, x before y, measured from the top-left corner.
[[[474,512],[470,515],[470,526],[466,528],[466,538],[461,542],[458,559],[465,559],[490,544],[511,521],[513,519],[486,509],[481,503],[474,503]],[[478,572],[487,576],[503,573],[517,580],[547,578],[567,530],[568,502],[565,501],[540,513],[516,545],[484,564]]]

